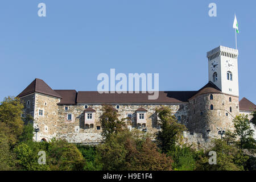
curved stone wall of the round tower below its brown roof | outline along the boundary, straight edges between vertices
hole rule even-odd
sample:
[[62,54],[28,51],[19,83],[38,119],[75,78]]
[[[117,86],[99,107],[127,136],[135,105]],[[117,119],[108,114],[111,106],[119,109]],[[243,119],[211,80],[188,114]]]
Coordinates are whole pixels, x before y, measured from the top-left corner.
[[[205,139],[220,137],[218,135],[220,128],[233,131],[232,120],[239,114],[238,97],[220,93],[213,93],[212,96],[213,100],[210,100],[210,94],[201,94],[189,100],[188,130],[192,133],[202,133]],[[213,105],[213,110],[210,109],[211,105]]]

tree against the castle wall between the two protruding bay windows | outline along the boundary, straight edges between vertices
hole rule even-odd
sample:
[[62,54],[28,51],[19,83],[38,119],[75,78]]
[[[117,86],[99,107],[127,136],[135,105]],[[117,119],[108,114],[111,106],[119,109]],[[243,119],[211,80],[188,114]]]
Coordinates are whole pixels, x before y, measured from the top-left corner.
[[119,119],[119,114],[117,111],[109,105],[103,105],[102,106],[102,115],[100,116],[100,123],[102,126],[102,136],[106,139],[109,138],[109,136],[112,133],[117,134],[119,131],[123,131],[127,129],[125,119]]

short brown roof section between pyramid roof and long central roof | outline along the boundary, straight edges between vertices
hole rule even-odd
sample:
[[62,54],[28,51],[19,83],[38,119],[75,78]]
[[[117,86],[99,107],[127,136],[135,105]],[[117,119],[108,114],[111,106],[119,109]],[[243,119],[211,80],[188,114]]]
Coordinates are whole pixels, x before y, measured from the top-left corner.
[[59,105],[74,105],[76,104],[77,92],[76,90],[54,90],[62,97]]

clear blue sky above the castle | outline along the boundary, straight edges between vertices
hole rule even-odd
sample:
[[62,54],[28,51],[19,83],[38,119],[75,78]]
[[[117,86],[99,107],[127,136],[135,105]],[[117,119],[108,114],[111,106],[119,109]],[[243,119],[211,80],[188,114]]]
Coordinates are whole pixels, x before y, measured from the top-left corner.
[[[211,2],[217,17],[208,15]],[[198,90],[208,82],[207,51],[234,48],[236,13],[240,99],[256,103],[255,9],[255,0],[1,1],[0,100],[35,78],[52,89],[97,90],[110,68],[159,73],[159,90]]]

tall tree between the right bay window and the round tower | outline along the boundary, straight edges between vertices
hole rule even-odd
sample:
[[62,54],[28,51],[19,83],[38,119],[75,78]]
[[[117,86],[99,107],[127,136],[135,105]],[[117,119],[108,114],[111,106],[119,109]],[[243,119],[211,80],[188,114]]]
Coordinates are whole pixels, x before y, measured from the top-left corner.
[[187,130],[187,128],[177,123],[174,115],[172,115],[171,109],[168,107],[162,107],[162,109],[156,110],[161,120],[162,130],[157,134],[157,138],[160,141],[163,152],[174,150],[179,134]]

